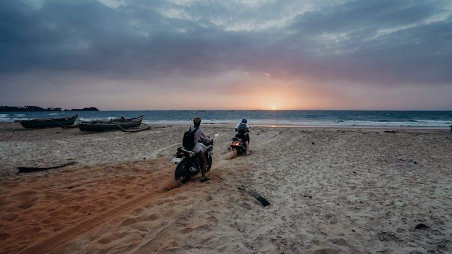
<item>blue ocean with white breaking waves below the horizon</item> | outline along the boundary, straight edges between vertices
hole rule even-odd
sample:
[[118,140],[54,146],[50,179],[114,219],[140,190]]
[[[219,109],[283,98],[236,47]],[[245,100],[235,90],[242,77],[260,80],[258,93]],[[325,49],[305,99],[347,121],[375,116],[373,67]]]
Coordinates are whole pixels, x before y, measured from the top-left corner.
[[0,122],[72,116],[82,121],[108,120],[143,115],[143,122],[154,124],[191,124],[201,117],[203,123],[237,123],[242,118],[254,125],[301,126],[376,126],[441,127],[452,125],[452,111],[346,111],[346,110],[148,110],[148,111],[79,111],[79,112],[0,112]]

